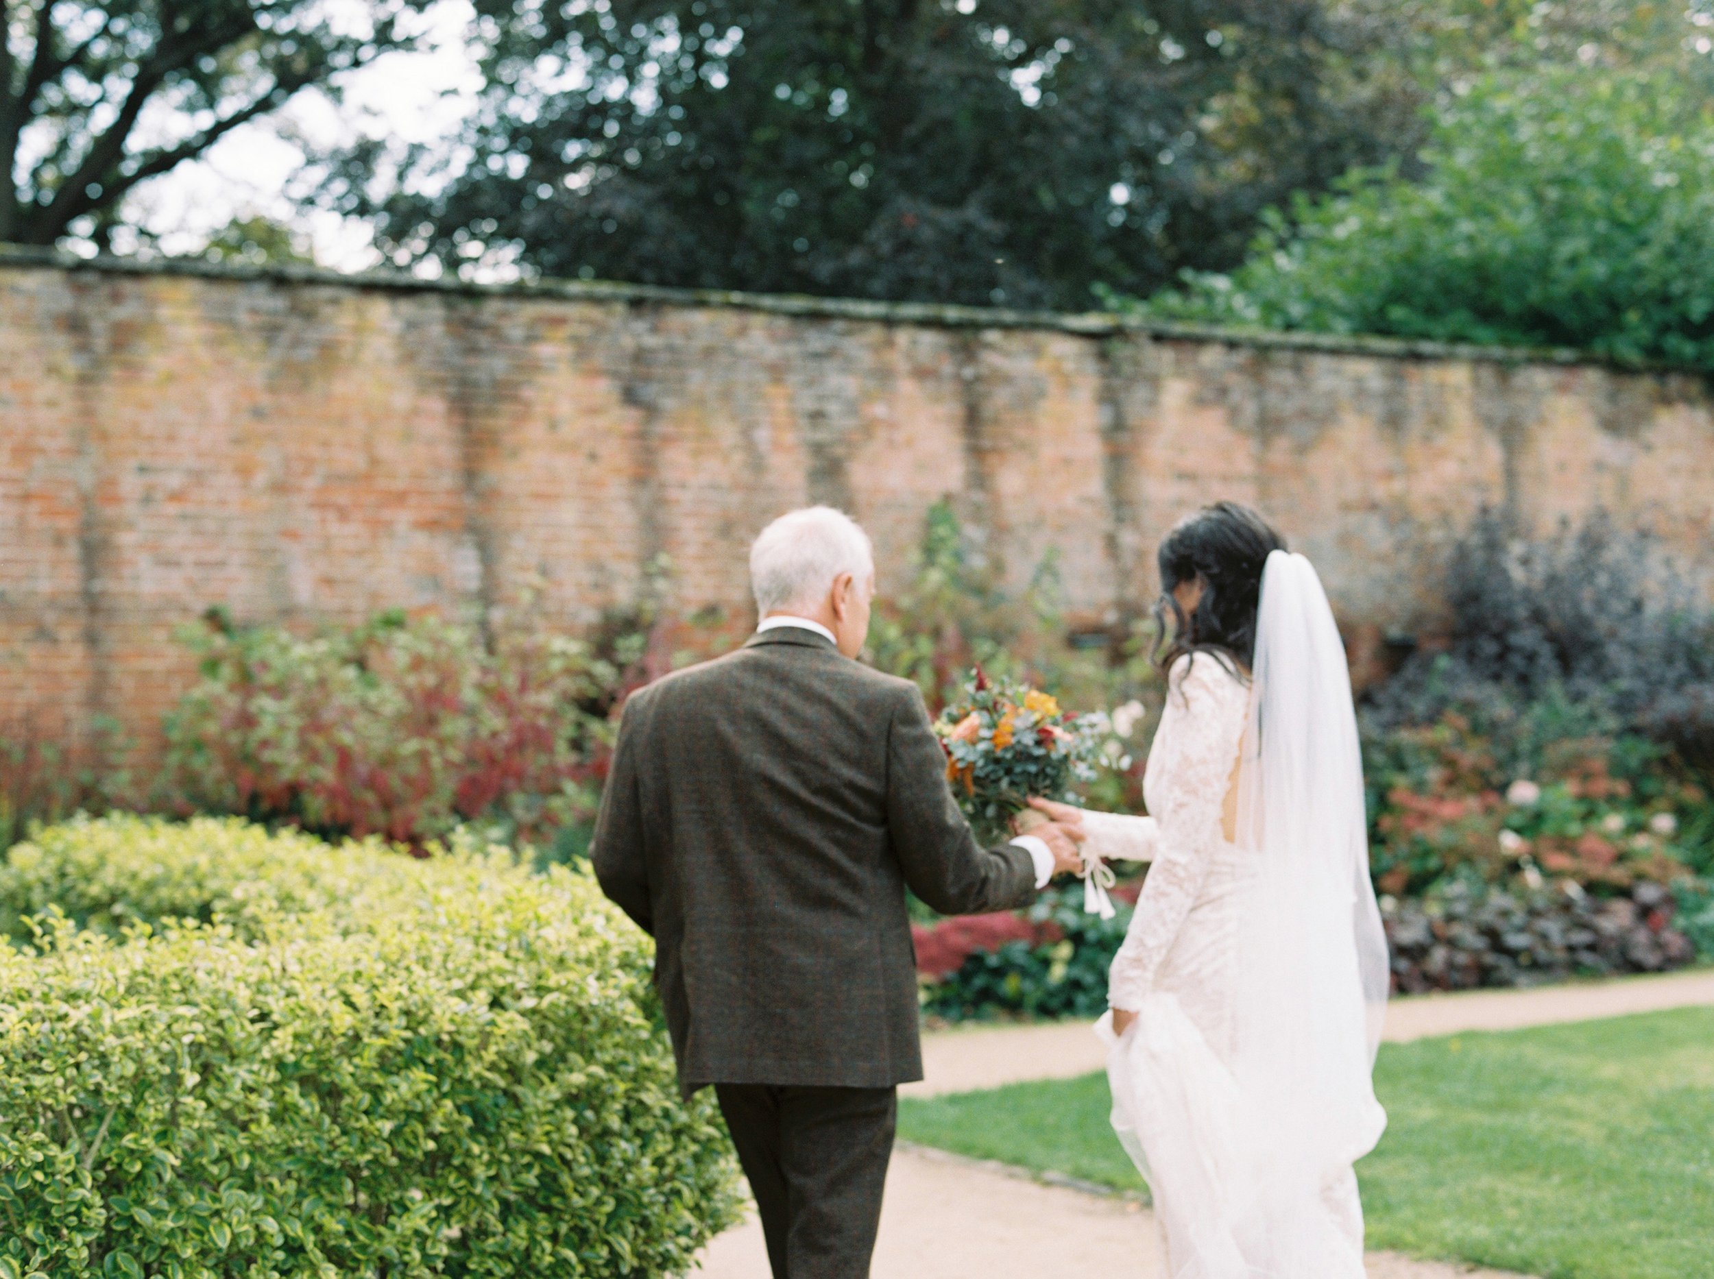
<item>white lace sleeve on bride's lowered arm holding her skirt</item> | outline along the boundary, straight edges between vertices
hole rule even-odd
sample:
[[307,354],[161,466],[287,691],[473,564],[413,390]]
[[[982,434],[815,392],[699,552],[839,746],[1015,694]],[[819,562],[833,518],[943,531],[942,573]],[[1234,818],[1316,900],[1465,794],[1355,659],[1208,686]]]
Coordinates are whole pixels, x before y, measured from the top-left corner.
[[1250,706],[1248,689],[1207,653],[1179,658],[1167,688],[1152,748],[1162,754],[1150,760],[1147,787],[1155,818],[1154,864],[1107,976],[1107,1003],[1128,1012],[1142,1006],[1208,874]]

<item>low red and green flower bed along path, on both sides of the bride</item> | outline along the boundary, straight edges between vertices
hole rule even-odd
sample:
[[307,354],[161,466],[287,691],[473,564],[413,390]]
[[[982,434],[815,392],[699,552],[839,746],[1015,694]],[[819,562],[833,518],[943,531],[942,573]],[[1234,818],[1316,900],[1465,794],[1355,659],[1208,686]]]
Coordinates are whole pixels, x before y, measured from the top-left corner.
[[[1371,854],[1399,993],[1714,958],[1714,811],[1700,785],[1633,736],[1541,736],[1500,751],[1460,712],[1371,734]],[[924,1008],[1099,1013],[1128,912],[1092,926],[1073,898],[919,924]]]

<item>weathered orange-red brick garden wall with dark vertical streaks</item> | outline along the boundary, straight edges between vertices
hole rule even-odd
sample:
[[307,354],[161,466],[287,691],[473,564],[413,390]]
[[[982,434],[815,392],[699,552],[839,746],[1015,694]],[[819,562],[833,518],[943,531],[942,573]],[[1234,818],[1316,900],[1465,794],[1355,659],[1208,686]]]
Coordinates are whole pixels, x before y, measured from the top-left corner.
[[1546,355],[1142,331],[1102,317],[0,257],[0,725],[147,741],[173,627],[351,621],[526,586],[567,626],[674,566],[749,612],[746,547],[809,501],[883,588],[951,495],[1013,583],[1052,547],[1097,624],[1162,531],[1260,506],[1347,622],[1431,615],[1484,502],[1608,506],[1714,574],[1700,379]]

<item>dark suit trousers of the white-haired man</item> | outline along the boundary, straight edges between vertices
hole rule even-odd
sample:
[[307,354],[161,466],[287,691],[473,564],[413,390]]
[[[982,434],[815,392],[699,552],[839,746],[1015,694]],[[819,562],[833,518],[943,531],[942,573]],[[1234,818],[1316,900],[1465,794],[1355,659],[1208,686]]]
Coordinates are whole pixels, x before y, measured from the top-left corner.
[[773,1279],[867,1279],[898,1089],[716,1084]]

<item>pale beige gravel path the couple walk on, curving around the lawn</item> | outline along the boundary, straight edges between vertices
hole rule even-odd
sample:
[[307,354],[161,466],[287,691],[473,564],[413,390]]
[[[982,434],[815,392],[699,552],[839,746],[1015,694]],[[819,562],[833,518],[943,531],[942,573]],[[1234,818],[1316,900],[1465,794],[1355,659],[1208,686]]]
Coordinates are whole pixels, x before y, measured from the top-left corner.
[[[1536,991],[1474,991],[1395,1000],[1387,1039],[1714,1005],[1714,970],[1579,982]],[[1087,1022],[943,1030],[924,1037],[927,1078],[914,1096],[989,1089],[1102,1070]],[[872,1279],[1160,1279],[1154,1217],[1128,1198],[1042,1185],[994,1164],[902,1147],[893,1156]],[[1369,1279],[1517,1279],[1397,1253],[1369,1253]],[[703,1253],[699,1279],[766,1279],[768,1253],[751,1217]]]

